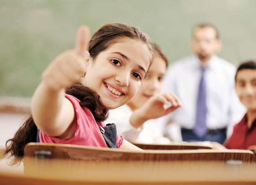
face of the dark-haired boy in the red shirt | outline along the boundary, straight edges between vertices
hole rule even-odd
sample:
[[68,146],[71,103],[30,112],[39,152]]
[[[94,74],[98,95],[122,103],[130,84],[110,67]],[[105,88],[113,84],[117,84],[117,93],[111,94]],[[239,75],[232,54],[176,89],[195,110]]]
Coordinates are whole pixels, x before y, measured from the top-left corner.
[[242,69],[236,75],[236,93],[248,110],[256,110],[256,70]]

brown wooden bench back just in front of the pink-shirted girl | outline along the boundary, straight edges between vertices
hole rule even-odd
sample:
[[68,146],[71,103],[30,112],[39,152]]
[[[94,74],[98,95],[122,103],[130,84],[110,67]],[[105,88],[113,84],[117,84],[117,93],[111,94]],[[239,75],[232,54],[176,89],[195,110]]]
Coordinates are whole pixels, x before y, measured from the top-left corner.
[[129,151],[83,145],[28,143],[24,156],[34,157],[35,152],[50,152],[47,158],[86,161],[253,161],[250,150],[144,150]]

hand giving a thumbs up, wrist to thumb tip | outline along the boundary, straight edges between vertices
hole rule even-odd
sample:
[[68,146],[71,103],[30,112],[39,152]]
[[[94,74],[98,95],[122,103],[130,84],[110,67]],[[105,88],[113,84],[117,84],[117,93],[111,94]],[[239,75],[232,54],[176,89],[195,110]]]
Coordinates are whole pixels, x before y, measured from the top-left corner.
[[58,55],[44,70],[42,79],[50,89],[60,90],[79,81],[81,73],[86,70],[88,56],[85,55],[85,51],[89,39],[89,27],[80,26],[76,33],[75,49]]

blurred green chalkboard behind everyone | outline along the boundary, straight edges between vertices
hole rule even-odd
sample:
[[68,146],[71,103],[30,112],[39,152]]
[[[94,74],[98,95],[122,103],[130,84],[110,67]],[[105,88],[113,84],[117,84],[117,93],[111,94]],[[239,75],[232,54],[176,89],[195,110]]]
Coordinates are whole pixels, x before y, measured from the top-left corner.
[[169,62],[191,54],[191,28],[209,22],[236,66],[256,57],[256,0],[0,0],[0,96],[31,97],[52,59],[74,47],[76,29],[139,26]]

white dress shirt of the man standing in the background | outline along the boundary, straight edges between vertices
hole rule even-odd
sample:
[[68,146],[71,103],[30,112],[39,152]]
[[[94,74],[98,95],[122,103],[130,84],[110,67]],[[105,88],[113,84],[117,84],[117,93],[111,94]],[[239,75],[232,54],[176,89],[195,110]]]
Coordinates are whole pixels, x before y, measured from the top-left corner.
[[[178,108],[164,119],[180,124],[181,128],[192,129],[195,125],[198,88],[202,75],[200,60],[193,55],[168,66],[164,77],[164,92],[173,92],[182,102]],[[236,94],[236,67],[226,60],[213,56],[205,70],[206,83],[206,124],[209,129],[228,128],[228,137],[233,126],[246,112]]]

